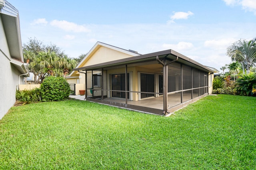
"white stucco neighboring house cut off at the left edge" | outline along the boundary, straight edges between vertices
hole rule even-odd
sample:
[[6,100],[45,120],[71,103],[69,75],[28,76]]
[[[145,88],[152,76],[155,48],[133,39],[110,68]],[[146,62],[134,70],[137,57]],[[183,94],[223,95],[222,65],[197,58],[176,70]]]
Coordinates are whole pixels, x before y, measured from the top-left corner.
[[16,101],[16,87],[29,76],[23,63],[18,10],[0,0],[0,119]]

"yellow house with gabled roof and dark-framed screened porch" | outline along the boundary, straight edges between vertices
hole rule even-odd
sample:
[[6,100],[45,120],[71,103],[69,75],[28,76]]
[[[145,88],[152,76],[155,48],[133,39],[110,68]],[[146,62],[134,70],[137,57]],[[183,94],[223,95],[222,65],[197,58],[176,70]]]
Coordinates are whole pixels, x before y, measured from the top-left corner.
[[171,49],[140,55],[97,42],[70,78],[81,77],[88,101],[168,115],[211,94],[214,72]]

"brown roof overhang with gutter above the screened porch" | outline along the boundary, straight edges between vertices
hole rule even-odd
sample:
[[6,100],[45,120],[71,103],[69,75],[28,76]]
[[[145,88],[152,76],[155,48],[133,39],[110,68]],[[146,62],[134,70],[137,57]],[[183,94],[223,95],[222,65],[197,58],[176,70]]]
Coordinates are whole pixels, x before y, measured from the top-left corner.
[[74,71],[84,71],[84,70],[100,70],[100,69],[110,69],[113,67],[124,67],[125,65],[128,66],[139,66],[139,65],[145,65],[146,63],[150,62],[150,64],[154,64],[154,63],[158,63],[158,61],[156,60],[156,56],[159,57],[160,60],[166,59],[166,60],[170,60],[173,61],[176,59],[176,57],[178,57],[177,62],[179,63],[183,63],[189,66],[193,66],[195,68],[198,68],[199,70],[203,70],[205,72],[214,72],[214,70],[174,51],[174,50],[165,50],[165,51],[159,51],[156,53],[149,53],[149,54],[145,54],[145,55],[139,55],[139,56],[135,56],[135,57],[129,57],[126,59],[120,59],[120,60],[116,60],[116,61],[110,61],[110,62],[106,62],[106,63],[100,63],[100,64],[94,64],[91,66],[85,66],[85,67],[80,67],[80,68],[74,68]]

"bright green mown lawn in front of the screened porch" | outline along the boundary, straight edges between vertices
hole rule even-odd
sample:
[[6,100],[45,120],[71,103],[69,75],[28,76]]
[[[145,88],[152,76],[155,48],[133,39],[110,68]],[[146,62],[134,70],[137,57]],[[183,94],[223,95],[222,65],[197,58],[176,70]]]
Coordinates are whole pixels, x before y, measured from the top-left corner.
[[207,96],[162,117],[79,100],[12,107],[0,169],[255,169],[256,98]]

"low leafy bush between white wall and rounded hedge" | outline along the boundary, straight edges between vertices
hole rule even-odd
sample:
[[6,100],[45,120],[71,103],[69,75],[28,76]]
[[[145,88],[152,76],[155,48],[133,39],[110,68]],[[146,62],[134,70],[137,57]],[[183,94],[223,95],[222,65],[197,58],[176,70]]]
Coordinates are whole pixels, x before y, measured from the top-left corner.
[[24,104],[30,104],[41,101],[41,90],[34,88],[32,90],[16,90],[16,100],[24,102]]

